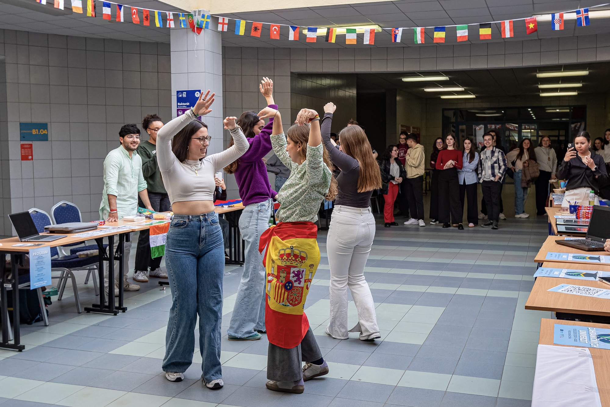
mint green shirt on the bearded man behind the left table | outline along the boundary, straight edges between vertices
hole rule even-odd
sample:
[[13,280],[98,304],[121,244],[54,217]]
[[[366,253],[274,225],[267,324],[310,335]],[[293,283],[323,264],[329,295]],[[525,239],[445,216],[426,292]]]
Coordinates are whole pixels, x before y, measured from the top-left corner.
[[137,152],[129,152],[123,145],[112,150],[104,160],[104,190],[99,204],[99,219],[106,219],[110,212],[108,194],[117,196],[118,218],[138,212],[138,192],[146,189],[142,175],[142,158]]

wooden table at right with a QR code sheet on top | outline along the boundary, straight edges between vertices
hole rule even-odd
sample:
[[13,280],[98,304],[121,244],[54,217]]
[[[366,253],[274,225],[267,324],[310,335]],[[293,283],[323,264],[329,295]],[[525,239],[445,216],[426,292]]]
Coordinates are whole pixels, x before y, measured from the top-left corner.
[[[592,264],[545,262],[542,266],[573,270],[610,271],[610,266]],[[556,313],[557,319],[561,320],[589,320],[610,323],[609,299],[548,291],[559,284],[586,285],[587,287],[610,289],[610,285],[601,281],[537,277],[534,287],[529,293],[528,301],[525,303],[525,309],[552,311]]]

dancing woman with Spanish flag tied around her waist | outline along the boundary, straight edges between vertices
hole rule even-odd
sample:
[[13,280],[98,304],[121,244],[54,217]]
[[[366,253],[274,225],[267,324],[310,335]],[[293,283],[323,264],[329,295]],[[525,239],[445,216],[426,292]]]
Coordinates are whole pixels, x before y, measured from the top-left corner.
[[[337,181],[332,178],[332,164],[322,143],[317,112],[301,109],[296,125],[287,131],[287,138],[278,111],[265,108],[259,116],[274,117],[273,151],[290,168],[290,178],[278,197],[279,223],[260,238],[261,249],[266,247],[267,268],[265,321],[269,348],[265,387],[303,393],[305,381],[328,374],[328,364],[303,310],[320,262],[314,222],[322,200],[335,199]],[[302,361],[306,362],[303,367]]]

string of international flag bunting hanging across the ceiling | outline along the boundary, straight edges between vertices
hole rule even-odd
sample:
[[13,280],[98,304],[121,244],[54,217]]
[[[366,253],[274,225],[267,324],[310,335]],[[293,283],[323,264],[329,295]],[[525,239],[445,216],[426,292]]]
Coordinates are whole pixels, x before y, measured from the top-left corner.
[[[38,3],[46,4],[47,0],[35,0]],[[49,0],[51,1],[51,0]],[[54,7],[56,9],[62,9],[64,7],[64,0],[53,0]],[[74,13],[87,13],[87,16],[96,16],[96,0],[70,0],[72,5],[72,12]],[[85,1],[86,8],[82,6],[82,2]],[[606,4],[592,5],[583,9],[569,10],[561,13],[551,13],[551,29],[562,30],[564,29],[564,13],[576,13],[576,26],[584,27],[590,24],[589,20],[589,9],[595,9],[597,7],[603,7]],[[113,7],[113,5],[115,7]],[[143,9],[142,7],[133,7],[131,5],[118,4],[112,1],[102,1],[102,18],[104,20],[112,20],[112,9],[115,9],[115,20],[120,22],[127,21],[124,16],[124,10],[127,9],[131,12],[131,22],[134,24],[140,24],[140,10],[142,10],[142,24],[145,26],[151,25],[151,20],[154,20],[156,27],[162,28],[191,28],[195,34],[201,34],[204,29],[212,29],[212,17],[217,17],[209,14],[202,14],[199,11],[193,13],[177,13],[177,12],[166,12],[160,10]],[[163,17],[165,16],[165,25],[163,25]],[[174,16],[177,18],[177,22],[174,23]],[[291,26],[289,24],[274,24],[274,23],[260,23],[257,21],[249,20],[237,20],[234,18],[218,16],[218,27],[217,31],[226,32],[229,28],[229,20],[235,21],[235,35],[245,35],[246,23],[251,23],[250,35],[253,37],[260,37],[263,31],[263,26],[269,26],[269,38],[272,40],[279,40],[279,34],[282,27],[289,29],[288,39],[291,41],[299,40],[299,26]],[[403,31],[412,29],[414,32],[414,42],[416,44],[425,43],[425,29],[433,29],[433,41],[435,43],[444,43],[445,34],[447,33],[448,27],[455,27],[458,42],[468,40],[468,26],[478,26],[479,28],[479,40],[490,40],[492,38],[492,24],[500,23],[500,32],[502,38],[510,38],[514,36],[515,21],[525,21],[525,32],[526,34],[533,34],[538,31],[538,21],[536,16],[515,18],[513,20],[504,21],[491,21],[490,23],[475,23],[475,24],[458,24],[451,26],[439,26],[439,27],[401,27],[401,28],[384,28],[389,30],[392,36],[392,42],[401,42]],[[306,42],[317,42],[318,27],[303,27],[304,34],[306,34]],[[329,27],[326,29],[325,41],[334,43],[336,42],[337,31],[339,29],[345,30],[345,43],[356,44],[357,35],[356,28],[339,28]],[[364,29],[364,44],[374,45],[375,44],[375,28]]]

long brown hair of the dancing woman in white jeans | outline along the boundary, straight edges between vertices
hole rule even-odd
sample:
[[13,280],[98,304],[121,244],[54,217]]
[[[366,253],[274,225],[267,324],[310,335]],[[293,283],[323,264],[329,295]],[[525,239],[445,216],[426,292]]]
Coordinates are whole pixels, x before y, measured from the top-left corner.
[[379,164],[373,158],[371,145],[362,127],[351,125],[343,128],[339,132],[339,140],[343,152],[351,158],[355,158],[360,166],[358,170],[358,192],[381,188]]

